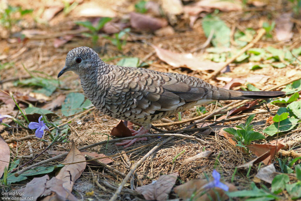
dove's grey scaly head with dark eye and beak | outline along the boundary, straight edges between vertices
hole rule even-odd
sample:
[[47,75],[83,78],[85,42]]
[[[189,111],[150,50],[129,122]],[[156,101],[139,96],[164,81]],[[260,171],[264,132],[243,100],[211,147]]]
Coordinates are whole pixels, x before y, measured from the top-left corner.
[[93,49],[89,47],[74,48],[68,52],[65,66],[57,77],[60,77],[66,71],[73,71],[78,75],[91,73],[97,68],[100,61],[101,59]]

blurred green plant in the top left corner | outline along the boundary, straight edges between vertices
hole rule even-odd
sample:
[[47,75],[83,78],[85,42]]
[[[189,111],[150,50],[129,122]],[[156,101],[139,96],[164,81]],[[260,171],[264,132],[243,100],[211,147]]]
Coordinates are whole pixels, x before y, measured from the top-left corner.
[[11,31],[11,27],[18,23],[21,19],[20,18],[15,18],[13,16],[14,13],[20,13],[20,16],[23,17],[25,14],[29,14],[33,12],[33,9],[25,9],[23,10],[20,6],[18,7],[13,7],[11,5],[8,5],[8,8],[4,10],[0,14],[0,22],[3,27],[8,28],[9,31]]

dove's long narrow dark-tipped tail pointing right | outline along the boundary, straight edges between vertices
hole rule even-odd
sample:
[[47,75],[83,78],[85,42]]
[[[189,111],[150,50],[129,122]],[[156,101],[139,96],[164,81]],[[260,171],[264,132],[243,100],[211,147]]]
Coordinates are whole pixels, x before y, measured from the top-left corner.
[[283,91],[234,91],[219,88],[213,91],[213,100],[244,100],[244,99],[270,99],[284,96]]

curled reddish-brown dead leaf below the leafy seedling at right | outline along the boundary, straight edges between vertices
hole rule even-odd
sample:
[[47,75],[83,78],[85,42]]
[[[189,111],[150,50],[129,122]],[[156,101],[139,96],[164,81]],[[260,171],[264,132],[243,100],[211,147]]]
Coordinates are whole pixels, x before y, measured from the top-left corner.
[[284,147],[284,145],[281,141],[278,141],[276,145],[275,141],[275,143],[272,142],[271,144],[250,144],[247,145],[247,147],[257,156],[260,156],[265,152],[269,152],[270,155],[262,161],[265,165],[269,165],[272,163],[275,155],[282,147]]

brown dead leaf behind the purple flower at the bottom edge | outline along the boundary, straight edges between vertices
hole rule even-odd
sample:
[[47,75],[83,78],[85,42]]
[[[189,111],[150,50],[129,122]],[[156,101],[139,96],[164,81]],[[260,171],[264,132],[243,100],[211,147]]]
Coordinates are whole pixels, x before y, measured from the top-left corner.
[[[229,184],[227,182],[223,182],[229,187],[229,191],[236,191],[236,187],[233,184]],[[193,196],[194,201],[209,201],[209,200],[225,200],[228,199],[228,196],[225,194],[225,192],[216,187],[214,190],[209,189],[206,190],[206,193],[201,195],[203,191],[201,190],[204,185],[208,184],[208,181],[206,179],[192,179],[185,184],[182,184],[180,186],[177,186],[174,188],[175,193],[178,194],[178,196],[184,200],[189,199]],[[219,198],[216,197],[217,191],[219,193]],[[209,196],[208,196],[209,194]]]

